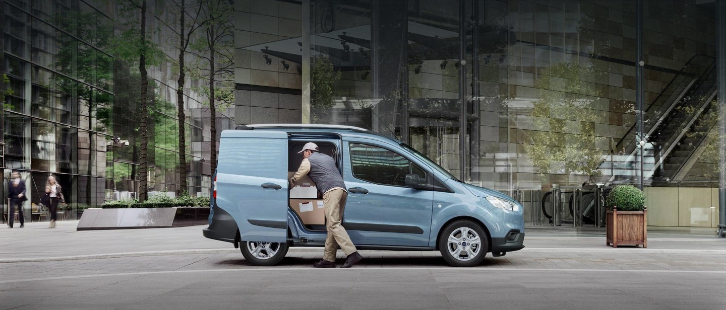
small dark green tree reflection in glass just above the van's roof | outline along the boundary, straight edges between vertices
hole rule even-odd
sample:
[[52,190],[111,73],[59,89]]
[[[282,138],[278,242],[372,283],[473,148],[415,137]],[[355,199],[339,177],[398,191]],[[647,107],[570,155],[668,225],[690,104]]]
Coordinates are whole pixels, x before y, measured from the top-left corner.
[[330,120],[330,108],[336,96],[333,85],[340,79],[340,72],[333,70],[333,62],[327,57],[315,57],[310,70],[310,121],[313,124]]

